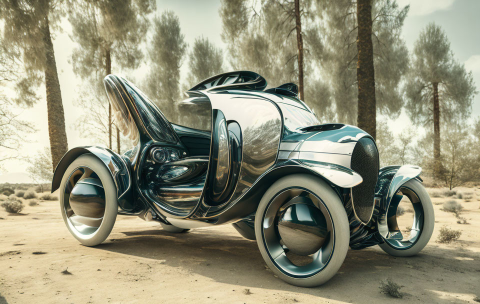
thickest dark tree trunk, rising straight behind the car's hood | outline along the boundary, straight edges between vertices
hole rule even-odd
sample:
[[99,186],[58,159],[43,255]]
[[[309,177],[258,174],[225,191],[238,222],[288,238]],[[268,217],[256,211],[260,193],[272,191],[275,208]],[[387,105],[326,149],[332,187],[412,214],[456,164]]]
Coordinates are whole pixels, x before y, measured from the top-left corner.
[[358,61],[358,127],[376,137],[375,71],[373,68],[373,44],[371,42],[371,0],[357,0],[356,19],[358,37],[356,47]]

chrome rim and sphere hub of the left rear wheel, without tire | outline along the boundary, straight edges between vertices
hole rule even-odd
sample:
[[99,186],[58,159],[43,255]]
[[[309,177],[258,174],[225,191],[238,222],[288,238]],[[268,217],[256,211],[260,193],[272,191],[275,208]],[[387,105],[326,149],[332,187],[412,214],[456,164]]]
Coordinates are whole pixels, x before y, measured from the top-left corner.
[[96,233],[105,213],[105,192],[95,171],[79,166],[71,172],[63,189],[62,207],[72,233],[81,238]]

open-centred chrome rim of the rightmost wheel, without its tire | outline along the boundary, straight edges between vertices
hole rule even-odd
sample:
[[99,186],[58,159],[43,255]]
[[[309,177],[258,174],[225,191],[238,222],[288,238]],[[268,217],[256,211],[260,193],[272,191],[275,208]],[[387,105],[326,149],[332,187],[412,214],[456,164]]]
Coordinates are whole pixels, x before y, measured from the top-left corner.
[[[402,198],[406,197],[411,203],[411,212],[413,212],[413,221],[409,231],[399,228],[398,207]],[[386,222],[388,226],[387,237],[384,238],[385,242],[391,247],[399,250],[405,250],[413,246],[420,237],[423,229],[424,211],[421,205],[421,201],[418,195],[412,189],[408,187],[400,187],[398,191],[393,195],[388,210],[386,212]]]

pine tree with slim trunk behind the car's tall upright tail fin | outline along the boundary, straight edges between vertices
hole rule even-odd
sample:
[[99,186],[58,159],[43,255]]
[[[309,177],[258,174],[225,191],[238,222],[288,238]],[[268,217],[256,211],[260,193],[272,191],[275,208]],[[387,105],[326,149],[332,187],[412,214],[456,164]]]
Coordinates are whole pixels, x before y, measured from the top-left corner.
[[[142,59],[140,43],[147,31],[146,16],[155,8],[152,0],[75,0],[69,3],[71,39],[78,43],[71,61],[73,71],[94,82],[93,94],[103,94],[101,79],[117,69],[138,67]],[[94,101],[96,98],[92,98]],[[108,104],[108,147],[112,148],[111,105]],[[117,152],[120,132],[116,127]]]

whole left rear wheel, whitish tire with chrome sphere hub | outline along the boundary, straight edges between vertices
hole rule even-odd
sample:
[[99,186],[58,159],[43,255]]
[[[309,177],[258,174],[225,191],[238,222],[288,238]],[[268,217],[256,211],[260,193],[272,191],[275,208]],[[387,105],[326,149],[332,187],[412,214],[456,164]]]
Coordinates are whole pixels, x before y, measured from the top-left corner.
[[80,243],[95,246],[111,232],[118,211],[116,186],[103,162],[78,156],[60,183],[60,211],[68,231]]

